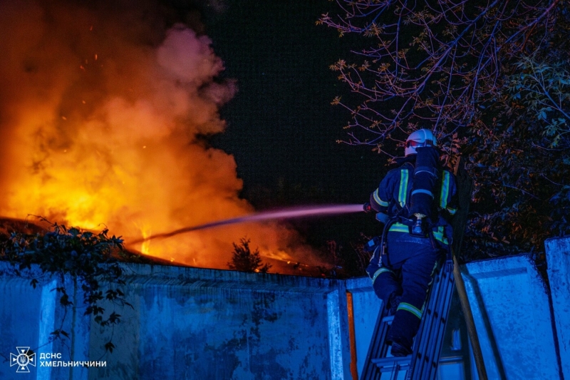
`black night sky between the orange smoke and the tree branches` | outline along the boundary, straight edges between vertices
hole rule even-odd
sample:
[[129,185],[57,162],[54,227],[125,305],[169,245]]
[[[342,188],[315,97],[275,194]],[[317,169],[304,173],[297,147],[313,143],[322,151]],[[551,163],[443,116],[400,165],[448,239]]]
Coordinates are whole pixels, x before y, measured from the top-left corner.
[[[370,148],[336,143],[346,137],[350,113],[331,101],[351,95],[328,66],[350,55],[350,41],[315,24],[333,6],[240,0],[202,14],[204,33],[225,63],[224,77],[236,79],[239,88],[222,108],[227,130],[212,143],[234,155],[243,196],[258,209],[362,203],[385,173],[386,159]],[[314,240],[350,239],[373,223],[368,216],[300,227],[318,235]]]

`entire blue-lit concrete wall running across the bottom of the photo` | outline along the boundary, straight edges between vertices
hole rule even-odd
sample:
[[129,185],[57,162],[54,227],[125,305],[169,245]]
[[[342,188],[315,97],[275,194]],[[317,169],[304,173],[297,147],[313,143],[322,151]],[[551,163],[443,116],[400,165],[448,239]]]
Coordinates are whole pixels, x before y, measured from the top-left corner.
[[[549,287],[527,255],[461,268],[489,379],[570,379],[570,239],[549,240],[546,251]],[[37,268],[18,276],[0,262],[0,379],[353,379],[380,309],[364,277],[123,269],[133,307],[103,303],[121,322],[101,329],[84,315],[81,284]],[[74,307],[61,306],[56,287]],[[70,338],[50,339],[58,329]],[[36,354],[28,373],[10,365],[17,347]],[[477,379],[457,294],[437,378]]]

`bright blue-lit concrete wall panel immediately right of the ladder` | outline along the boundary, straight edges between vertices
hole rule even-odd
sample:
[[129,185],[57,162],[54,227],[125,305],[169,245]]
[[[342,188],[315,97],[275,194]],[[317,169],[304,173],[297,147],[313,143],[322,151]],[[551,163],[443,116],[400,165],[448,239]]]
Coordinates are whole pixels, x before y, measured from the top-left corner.
[[544,283],[527,255],[462,269],[489,379],[557,379]]

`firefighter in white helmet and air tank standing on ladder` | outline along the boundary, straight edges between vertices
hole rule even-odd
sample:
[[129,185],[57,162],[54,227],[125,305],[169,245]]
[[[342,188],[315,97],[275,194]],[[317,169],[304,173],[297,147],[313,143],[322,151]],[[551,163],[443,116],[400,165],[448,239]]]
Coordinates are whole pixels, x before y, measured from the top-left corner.
[[431,130],[411,133],[405,158],[390,170],[366,202],[385,224],[366,269],[375,294],[394,315],[387,343],[393,356],[412,353],[427,289],[442,254],[450,265],[450,217],[457,210],[455,176],[441,168]]

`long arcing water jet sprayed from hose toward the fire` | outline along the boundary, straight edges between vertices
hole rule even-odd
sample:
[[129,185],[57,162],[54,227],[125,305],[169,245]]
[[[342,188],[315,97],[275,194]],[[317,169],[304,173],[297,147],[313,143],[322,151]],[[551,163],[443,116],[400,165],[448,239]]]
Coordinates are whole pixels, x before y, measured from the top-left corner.
[[204,225],[184,227],[171,232],[151,235],[143,239],[138,239],[133,242],[130,242],[130,244],[145,242],[147,240],[152,240],[152,239],[165,239],[166,237],[180,235],[186,232],[204,230],[206,228],[219,227],[221,225],[233,225],[235,223],[243,223],[243,222],[259,222],[261,220],[271,220],[271,219],[293,219],[296,217],[309,217],[309,216],[318,216],[318,215],[338,215],[338,214],[346,214],[349,212],[361,212],[361,211],[363,211],[363,205],[325,205],[325,206],[291,207],[282,210],[256,212],[252,215],[245,215],[243,217],[234,217],[232,219],[218,220],[217,222],[209,222],[205,223]]

